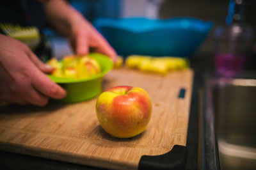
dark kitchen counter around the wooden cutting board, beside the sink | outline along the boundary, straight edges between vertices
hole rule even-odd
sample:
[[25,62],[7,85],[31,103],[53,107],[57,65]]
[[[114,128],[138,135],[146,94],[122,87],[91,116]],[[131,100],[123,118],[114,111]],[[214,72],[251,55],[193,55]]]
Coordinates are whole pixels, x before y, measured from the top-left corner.
[[[255,66],[253,66],[254,61],[255,56],[248,59],[248,62],[246,62],[247,70],[255,70]],[[200,118],[199,108],[200,105],[202,106],[202,101],[200,102],[198,94],[200,94],[200,90],[202,90],[202,75],[204,75],[205,72],[212,72],[214,68],[211,54],[198,54],[193,56],[191,67],[195,70],[195,77],[186,143],[188,148],[186,169],[202,169],[205,164],[204,155],[202,153],[204,149],[202,148],[202,118]],[[100,169],[47,158],[10,153],[7,151],[0,151],[0,167],[1,169]]]

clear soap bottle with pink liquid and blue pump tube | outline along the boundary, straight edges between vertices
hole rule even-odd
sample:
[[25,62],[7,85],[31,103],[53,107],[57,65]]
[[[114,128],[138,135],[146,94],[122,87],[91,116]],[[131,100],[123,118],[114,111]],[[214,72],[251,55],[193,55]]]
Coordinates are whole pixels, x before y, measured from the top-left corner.
[[234,77],[244,69],[252,50],[252,27],[243,23],[244,2],[230,0],[225,26],[214,33],[215,68],[222,77]]

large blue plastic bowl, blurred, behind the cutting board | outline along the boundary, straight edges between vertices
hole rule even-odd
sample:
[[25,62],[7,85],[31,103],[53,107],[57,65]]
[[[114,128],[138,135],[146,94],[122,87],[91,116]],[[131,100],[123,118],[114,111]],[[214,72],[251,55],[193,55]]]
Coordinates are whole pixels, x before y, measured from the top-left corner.
[[191,56],[204,42],[212,22],[173,19],[97,19],[94,26],[121,56]]

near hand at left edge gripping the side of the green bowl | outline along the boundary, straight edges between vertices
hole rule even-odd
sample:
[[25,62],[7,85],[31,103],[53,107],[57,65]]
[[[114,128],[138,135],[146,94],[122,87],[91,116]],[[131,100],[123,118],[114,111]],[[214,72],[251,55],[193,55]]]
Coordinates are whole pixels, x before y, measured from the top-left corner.
[[66,91],[44,73],[44,65],[27,45],[0,35],[0,101],[44,106],[49,97],[63,98]]

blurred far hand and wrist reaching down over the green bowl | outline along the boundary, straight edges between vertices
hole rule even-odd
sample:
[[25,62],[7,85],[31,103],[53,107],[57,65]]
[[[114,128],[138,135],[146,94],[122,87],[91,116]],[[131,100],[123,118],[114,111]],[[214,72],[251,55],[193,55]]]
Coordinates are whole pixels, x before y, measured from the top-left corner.
[[113,61],[117,54],[106,39],[67,2],[61,0],[45,1],[45,14],[49,24],[58,33],[68,37],[77,55],[83,56],[91,50],[106,54]]

